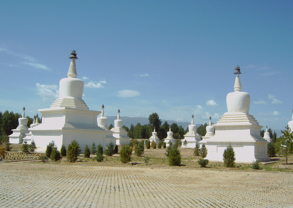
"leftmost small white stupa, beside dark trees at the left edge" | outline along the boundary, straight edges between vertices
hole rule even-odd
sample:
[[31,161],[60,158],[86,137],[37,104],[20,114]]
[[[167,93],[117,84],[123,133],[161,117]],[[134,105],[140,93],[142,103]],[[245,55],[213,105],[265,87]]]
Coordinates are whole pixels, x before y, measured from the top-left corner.
[[24,111],[25,107],[23,107],[23,113],[22,116],[18,119],[18,126],[16,129],[13,129],[13,133],[9,135],[9,142],[12,144],[22,144],[23,138],[25,137],[25,134],[30,132],[28,130],[28,118],[25,117]]

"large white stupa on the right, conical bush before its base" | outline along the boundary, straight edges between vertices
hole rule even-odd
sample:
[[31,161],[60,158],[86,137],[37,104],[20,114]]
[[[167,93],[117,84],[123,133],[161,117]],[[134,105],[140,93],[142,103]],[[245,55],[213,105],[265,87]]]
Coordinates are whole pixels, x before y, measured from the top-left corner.
[[250,96],[241,92],[239,79],[240,68],[236,67],[234,92],[227,95],[228,112],[214,124],[215,135],[203,138],[208,160],[222,161],[224,149],[229,144],[235,151],[236,162],[268,161],[268,142],[260,136],[260,126],[252,115],[249,115]]

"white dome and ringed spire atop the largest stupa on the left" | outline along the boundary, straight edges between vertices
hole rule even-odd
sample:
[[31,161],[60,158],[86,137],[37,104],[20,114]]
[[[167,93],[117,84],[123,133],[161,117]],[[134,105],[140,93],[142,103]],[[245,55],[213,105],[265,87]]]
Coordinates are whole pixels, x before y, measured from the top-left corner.
[[69,58],[71,59],[71,63],[67,78],[63,78],[59,82],[59,98],[76,98],[81,100],[84,91],[84,81],[76,78],[75,59],[77,59],[77,57],[74,50]]

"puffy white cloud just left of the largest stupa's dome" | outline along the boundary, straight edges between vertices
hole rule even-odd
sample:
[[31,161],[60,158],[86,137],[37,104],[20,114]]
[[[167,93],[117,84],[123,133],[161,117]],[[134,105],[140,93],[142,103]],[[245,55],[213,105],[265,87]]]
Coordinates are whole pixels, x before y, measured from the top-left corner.
[[59,98],[59,89],[57,85],[40,84],[37,83],[37,95],[43,98],[43,101],[54,101]]

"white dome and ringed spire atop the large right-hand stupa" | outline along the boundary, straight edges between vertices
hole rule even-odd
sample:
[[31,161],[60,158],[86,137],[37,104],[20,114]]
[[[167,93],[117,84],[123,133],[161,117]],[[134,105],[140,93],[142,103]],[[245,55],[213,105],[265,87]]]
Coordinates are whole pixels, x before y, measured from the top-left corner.
[[241,92],[241,83],[239,79],[240,68],[237,65],[234,74],[236,74],[234,92],[228,93],[226,102],[228,112],[230,113],[249,113],[250,95]]

